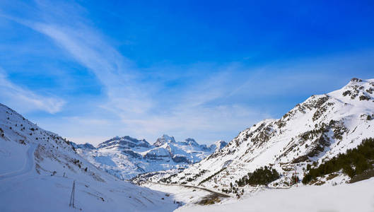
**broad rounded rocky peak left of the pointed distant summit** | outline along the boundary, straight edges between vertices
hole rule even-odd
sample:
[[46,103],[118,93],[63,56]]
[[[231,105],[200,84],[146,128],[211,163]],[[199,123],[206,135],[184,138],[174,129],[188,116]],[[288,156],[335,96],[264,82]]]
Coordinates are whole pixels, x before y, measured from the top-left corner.
[[149,148],[151,145],[145,139],[134,139],[130,136],[115,136],[112,139],[104,141],[98,145],[98,148],[134,148],[134,147],[146,147]]

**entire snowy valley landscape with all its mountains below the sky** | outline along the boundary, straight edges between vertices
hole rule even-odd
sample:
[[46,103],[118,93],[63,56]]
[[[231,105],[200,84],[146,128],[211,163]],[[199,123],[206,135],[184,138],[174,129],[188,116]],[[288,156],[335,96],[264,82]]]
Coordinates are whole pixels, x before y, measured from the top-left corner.
[[167,135],[76,144],[0,105],[0,211],[374,211],[372,146],[361,171],[317,172],[369,138],[374,79],[312,95],[227,145]]

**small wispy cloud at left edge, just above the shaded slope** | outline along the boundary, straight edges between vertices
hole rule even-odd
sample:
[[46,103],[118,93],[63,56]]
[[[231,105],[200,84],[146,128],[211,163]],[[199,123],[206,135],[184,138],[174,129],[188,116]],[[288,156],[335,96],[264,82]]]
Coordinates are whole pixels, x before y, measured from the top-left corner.
[[21,112],[42,110],[54,114],[62,110],[65,101],[52,95],[40,95],[27,88],[22,88],[6,78],[0,69],[0,99],[4,104],[15,107]]

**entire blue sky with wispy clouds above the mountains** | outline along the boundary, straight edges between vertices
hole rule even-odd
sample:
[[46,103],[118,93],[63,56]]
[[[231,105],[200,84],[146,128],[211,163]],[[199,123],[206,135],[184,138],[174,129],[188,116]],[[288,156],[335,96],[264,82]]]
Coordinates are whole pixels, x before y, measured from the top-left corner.
[[0,102],[77,143],[230,141],[374,78],[373,1],[1,1]]

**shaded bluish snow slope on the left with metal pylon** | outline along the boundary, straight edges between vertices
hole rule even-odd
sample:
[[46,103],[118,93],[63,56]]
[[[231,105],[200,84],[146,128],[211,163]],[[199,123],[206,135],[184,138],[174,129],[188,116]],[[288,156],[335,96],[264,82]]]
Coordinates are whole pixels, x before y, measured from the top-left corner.
[[171,198],[98,169],[66,139],[0,104],[0,211],[173,211]]

